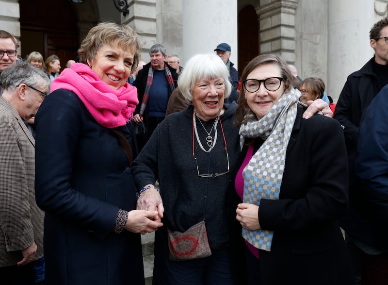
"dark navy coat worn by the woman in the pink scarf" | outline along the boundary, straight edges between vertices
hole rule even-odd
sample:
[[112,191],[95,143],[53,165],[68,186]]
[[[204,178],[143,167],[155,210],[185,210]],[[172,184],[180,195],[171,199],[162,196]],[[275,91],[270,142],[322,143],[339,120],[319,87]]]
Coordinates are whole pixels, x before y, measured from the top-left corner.
[[[144,284],[140,235],[112,231],[118,210],[136,207],[129,161],[112,130],[64,89],[45,99],[35,124],[45,284]],[[130,141],[128,128],[120,129]]]

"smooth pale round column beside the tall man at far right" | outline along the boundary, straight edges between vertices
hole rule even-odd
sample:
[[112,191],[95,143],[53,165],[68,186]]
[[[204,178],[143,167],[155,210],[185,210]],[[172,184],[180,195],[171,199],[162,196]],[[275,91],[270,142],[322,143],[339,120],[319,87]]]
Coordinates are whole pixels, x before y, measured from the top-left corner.
[[369,31],[374,23],[374,0],[328,1],[327,94],[336,102],[347,76],[372,56]]

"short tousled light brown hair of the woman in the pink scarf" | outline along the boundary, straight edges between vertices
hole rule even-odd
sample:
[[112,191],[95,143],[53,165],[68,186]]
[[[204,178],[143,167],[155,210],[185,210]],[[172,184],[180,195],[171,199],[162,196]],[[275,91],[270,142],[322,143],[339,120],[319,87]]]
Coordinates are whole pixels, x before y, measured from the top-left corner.
[[130,48],[133,53],[131,70],[136,69],[140,60],[142,42],[138,34],[129,26],[113,22],[103,22],[90,29],[78,50],[80,62],[88,64],[87,60],[93,61],[103,44],[117,45],[123,50]]

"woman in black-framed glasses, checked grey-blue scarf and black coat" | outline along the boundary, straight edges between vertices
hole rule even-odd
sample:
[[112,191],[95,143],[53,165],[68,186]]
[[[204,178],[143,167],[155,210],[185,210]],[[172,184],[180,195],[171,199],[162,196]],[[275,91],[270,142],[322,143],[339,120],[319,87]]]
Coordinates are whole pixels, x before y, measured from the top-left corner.
[[235,186],[248,284],[353,284],[337,221],[348,201],[341,126],[302,117],[300,92],[279,56],[257,56],[241,79],[235,123],[243,163]]

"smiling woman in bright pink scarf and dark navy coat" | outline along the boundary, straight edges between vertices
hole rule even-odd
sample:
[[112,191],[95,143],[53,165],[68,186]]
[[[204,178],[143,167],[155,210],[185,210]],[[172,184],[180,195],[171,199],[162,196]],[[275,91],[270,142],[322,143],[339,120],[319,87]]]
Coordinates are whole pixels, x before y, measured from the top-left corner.
[[35,117],[47,284],[144,284],[140,233],[162,223],[135,210],[128,126],[138,100],[127,80],[140,49],[128,26],[98,24]]

